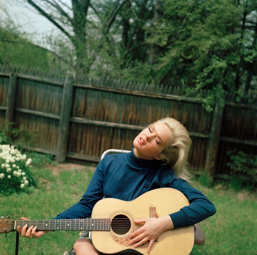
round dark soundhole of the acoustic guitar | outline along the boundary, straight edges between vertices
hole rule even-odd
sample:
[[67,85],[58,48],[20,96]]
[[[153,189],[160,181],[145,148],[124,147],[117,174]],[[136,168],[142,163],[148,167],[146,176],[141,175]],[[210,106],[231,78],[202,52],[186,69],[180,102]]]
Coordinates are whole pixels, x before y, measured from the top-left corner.
[[116,215],[111,222],[112,231],[118,235],[126,234],[131,228],[130,219],[126,215]]

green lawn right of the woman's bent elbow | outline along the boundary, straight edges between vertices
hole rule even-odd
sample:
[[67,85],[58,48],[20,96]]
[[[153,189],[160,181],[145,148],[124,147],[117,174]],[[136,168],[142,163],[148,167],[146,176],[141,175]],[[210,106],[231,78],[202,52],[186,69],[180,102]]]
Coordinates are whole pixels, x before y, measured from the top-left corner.
[[200,222],[205,234],[205,244],[195,245],[194,255],[253,255],[257,239],[257,196],[245,190],[233,188],[215,190],[199,183],[193,186],[201,190],[215,205],[217,213]]

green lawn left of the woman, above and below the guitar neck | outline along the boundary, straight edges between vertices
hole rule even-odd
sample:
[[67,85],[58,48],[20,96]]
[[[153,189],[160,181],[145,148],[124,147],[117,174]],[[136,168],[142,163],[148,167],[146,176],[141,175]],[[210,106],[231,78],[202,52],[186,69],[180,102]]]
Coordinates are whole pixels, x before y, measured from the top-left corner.
[[[66,210],[79,199],[93,175],[92,168],[81,166],[79,169],[65,169],[54,167],[32,169],[39,185],[31,194],[13,194],[0,196],[0,216],[10,216],[11,219],[20,219],[21,216],[29,219],[51,219],[58,213]],[[15,253],[15,232],[2,236],[0,241],[0,254]],[[62,255],[70,250],[78,238],[78,231],[55,231],[39,239],[28,240],[20,237],[19,255]]]

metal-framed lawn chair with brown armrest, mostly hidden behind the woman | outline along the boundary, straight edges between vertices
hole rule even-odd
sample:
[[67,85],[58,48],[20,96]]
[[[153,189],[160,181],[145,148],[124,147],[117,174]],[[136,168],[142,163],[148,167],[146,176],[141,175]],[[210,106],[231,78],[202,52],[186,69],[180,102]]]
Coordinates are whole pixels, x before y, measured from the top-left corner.
[[[120,150],[120,149],[109,149],[103,152],[103,154],[101,155],[100,160],[103,159],[103,157],[105,157],[107,154],[114,154],[114,153],[128,153],[130,152],[130,150]],[[85,238],[85,237],[91,237],[91,232],[90,231],[84,231],[80,234],[79,239],[81,238]],[[199,224],[195,224],[195,245],[203,245],[205,241],[205,236],[204,236],[204,232],[201,229],[201,227],[199,226]],[[65,253],[63,253],[63,255],[75,255],[74,250],[72,249],[70,252],[65,251]],[[192,253],[190,253],[189,255],[192,255]]]

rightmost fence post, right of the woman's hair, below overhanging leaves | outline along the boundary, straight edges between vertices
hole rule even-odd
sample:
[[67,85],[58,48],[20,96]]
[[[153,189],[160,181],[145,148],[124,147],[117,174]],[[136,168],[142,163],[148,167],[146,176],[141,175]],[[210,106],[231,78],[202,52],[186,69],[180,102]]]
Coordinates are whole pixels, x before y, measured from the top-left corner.
[[219,145],[219,138],[221,133],[221,124],[223,111],[225,107],[225,96],[222,95],[216,100],[213,112],[212,127],[210,132],[209,144],[207,148],[205,172],[211,176],[215,173],[215,163],[217,159],[217,150]]

